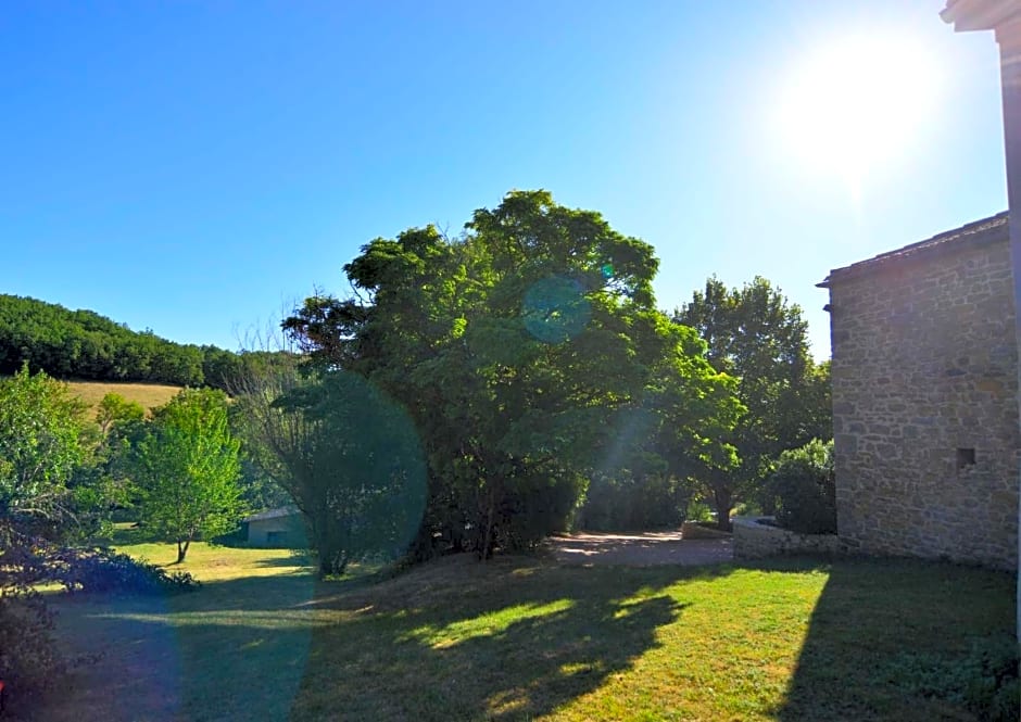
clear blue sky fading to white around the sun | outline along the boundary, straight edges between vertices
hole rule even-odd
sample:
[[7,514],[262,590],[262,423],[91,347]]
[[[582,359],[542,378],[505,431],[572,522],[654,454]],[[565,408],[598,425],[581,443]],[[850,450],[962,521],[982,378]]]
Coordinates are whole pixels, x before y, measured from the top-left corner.
[[[830,268],[1006,208],[996,45],[943,4],[10,0],[0,292],[234,349],[371,238],[545,188],[656,246],[663,308],[761,275],[824,358]],[[852,181],[778,111],[875,35],[935,90]]]

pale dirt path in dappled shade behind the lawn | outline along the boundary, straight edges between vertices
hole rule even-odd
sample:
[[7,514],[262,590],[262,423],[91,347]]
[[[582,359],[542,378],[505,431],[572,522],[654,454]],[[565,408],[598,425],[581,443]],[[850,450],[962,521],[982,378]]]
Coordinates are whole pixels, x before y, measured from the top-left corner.
[[550,539],[554,558],[569,565],[714,565],[733,560],[730,539],[682,540],[681,532],[603,534],[581,532]]

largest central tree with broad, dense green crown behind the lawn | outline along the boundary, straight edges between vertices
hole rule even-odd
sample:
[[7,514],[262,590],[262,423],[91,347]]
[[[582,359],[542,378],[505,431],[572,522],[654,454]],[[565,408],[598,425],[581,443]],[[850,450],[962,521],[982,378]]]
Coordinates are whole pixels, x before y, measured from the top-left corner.
[[285,329],[413,417],[429,469],[416,555],[488,557],[564,529],[595,474],[733,463],[732,383],[655,309],[657,266],[597,213],[514,191],[459,238],[371,241],[344,266],[355,295],[308,299]]

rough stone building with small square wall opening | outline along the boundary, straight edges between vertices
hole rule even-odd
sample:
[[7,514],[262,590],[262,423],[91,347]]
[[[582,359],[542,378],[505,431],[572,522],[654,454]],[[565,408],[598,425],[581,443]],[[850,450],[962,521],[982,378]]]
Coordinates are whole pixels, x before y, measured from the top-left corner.
[[1018,568],[1008,218],[831,271],[837,531],[865,553]]

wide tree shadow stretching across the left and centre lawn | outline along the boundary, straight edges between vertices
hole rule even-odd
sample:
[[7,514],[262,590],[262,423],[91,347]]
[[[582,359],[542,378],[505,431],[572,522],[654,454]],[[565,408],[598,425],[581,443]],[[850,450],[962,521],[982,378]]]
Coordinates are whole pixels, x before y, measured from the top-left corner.
[[657,646],[683,610],[665,587],[728,569],[454,560],[371,586],[250,577],[76,601],[64,629],[106,656],[39,719],[530,718]]

